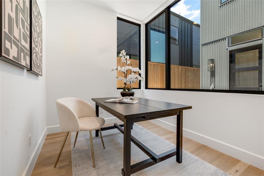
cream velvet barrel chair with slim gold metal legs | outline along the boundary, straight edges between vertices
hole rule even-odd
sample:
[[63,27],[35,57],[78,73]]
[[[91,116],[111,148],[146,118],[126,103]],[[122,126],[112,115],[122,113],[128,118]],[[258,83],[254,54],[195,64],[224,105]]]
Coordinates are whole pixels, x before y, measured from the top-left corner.
[[82,99],[78,99],[78,98],[57,99],[56,106],[57,106],[57,113],[59,116],[59,126],[61,128],[61,131],[66,131],[67,133],[62,143],[62,147],[59,151],[59,155],[57,157],[54,167],[56,167],[58,163],[67,136],[71,131],[77,132],[74,141],[74,147],[79,131],[90,131],[93,167],[95,167],[92,130],[99,129],[101,140],[103,143],[103,148],[105,148],[101,133],[101,127],[105,124],[105,120],[103,118],[96,117],[96,112],[93,109],[93,106],[87,101],[84,101]]

